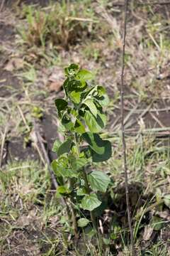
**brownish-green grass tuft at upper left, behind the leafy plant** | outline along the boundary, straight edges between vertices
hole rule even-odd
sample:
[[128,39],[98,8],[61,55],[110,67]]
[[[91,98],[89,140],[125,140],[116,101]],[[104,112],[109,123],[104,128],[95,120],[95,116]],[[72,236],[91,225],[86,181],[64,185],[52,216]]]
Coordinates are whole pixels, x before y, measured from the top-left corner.
[[[88,1],[84,4],[89,5]],[[62,4],[52,5],[50,11],[25,7],[23,11],[28,25],[27,28],[18,28],[18,32],[29,47],[49,45],[68,49],[88,35],[89,24],[94,22],[93,12],[88,8],[84,10],[80,1],[77,4],[62,1]]]

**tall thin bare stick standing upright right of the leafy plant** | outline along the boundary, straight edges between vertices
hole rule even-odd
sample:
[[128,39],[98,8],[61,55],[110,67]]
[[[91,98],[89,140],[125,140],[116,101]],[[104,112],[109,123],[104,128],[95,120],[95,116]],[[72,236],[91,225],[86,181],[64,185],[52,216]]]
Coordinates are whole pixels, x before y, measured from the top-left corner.
[[125,127],[124,127],[124,70],[125,70],[125,38],[126,38],[126,24],[127,24],[127,13],[128,13],[128,0],[125,0],[125,18],[123,26],[123,52],[122,52],[122,71],[121,71],[121,91],[120,91],[120,100],[121,100],[121,132],[122,132],[122,142],[123,142],[123,165],[125,173],[125,194],[126,194],[126,204],[128,211],[128,224],[130,229],[130,243],[132,247],[132,256],[135,256],[135,245],[133,240],[133,230],[130,216],[130,200],[129,200],[129,188],[128,188],[128,168],[126,160],[126,144],[125,144]]

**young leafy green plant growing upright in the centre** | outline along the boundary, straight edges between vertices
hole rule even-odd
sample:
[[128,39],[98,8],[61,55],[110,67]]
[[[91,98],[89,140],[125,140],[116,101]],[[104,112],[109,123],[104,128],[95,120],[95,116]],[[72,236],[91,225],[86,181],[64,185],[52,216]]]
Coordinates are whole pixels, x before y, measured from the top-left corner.
[[[101,206],[101,195],[106,193],[110,178],[90,167],[93,162],[111,157],[111,143],[99,135],[106,126],[103,107],[108,105],[108,95],[102,86],[89,86],[87,81],[93,75],[88,70],[79,70],[78,65],[72,64],[64,71],[67,77],[63,84],[65,97],[56,99],[55,105],[65,140],[56,140],[53,145],[57,159],[52,161],[52,169],[60,184],[57,193],[64,196],[71,206],[74,230],[77,230],[78,213],[75,211],[79,208],[89,210],[96,230],[94,210]],[[83,228],[89,221],[80,218],[78,225]]]

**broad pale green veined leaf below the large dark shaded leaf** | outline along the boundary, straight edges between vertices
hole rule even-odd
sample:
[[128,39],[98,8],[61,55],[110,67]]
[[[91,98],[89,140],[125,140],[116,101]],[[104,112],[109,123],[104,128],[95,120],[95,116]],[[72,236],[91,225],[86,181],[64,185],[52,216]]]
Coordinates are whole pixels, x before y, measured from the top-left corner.
[[108,184],[111,182],[111,178],[102,171],[93,171],[88,175],[88,181],[91,189],[105,193],[108,188]]

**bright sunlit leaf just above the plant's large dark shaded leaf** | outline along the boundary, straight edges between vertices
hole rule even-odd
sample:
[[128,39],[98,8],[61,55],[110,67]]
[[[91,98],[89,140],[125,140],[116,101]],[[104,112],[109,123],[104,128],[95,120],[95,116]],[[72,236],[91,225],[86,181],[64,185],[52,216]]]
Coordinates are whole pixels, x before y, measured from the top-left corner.
[[101,114],[99,111],[96,117],[90,111],[86,111],[84,119],[91,132],[101,132],[106,125],[105,114]]

